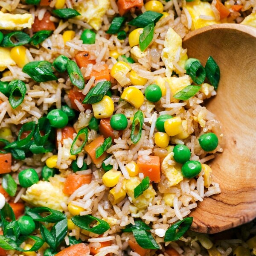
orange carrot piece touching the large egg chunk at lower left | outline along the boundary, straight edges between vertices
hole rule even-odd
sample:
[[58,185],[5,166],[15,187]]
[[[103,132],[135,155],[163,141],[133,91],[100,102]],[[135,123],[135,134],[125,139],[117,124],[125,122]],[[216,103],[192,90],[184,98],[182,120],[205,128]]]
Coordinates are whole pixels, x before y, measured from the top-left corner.
[[69,174],[67,175],[67,179],[64,183],[63,193],[67,195],[73,194],[76,189],[80,188],[84,184],[89,184],[92,180],[92,175],[78,175],[78,174]]

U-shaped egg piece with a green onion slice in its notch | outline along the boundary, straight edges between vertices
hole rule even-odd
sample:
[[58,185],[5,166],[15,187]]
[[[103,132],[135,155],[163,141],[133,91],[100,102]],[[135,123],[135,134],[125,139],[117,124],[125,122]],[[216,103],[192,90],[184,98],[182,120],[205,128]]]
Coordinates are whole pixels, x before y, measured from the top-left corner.
[[131,201],[135,207],[139,209],[146,209],[148,205],[153,201],[154,196],[157,193],[154,191],[153,186],[150,184],[148,189],[146,189],[142,195],[134,198],[134,188],[137,187],[139,184],[139,177],[130,177],[129,180],[125,180],[123,189],[125,189],[125,192],[129,196],[129,198],[131,198]]

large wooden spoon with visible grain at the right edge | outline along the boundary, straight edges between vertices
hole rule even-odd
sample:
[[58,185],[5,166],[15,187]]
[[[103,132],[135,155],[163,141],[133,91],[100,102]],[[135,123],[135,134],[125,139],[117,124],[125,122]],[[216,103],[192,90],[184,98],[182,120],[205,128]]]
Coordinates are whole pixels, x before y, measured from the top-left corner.
[[221,71],[217,96],[207,108],[223,125],[224,152],[211,163],[222,192],[191,213],[192,230],[217,233],[256,217],[256,29],[211,25],[186,35],[183,47],[203,65],[211,55]]

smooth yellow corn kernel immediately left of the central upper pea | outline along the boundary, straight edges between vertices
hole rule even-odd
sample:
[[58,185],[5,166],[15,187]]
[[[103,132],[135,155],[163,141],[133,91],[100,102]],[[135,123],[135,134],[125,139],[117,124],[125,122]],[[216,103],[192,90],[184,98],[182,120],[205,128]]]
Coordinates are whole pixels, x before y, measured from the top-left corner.
[[125,99],[135,108],[140,108],[144,102],[143,93],[135,87],[127,87],[121,95],[121,99]]

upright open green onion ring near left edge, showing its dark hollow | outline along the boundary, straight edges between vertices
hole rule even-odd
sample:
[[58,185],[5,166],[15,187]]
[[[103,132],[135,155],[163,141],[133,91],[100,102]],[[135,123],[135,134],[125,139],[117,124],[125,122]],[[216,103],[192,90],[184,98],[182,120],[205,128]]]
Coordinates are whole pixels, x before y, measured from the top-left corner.
[[17,108],[24,100],[26,95],[26,84],[20,80],[13,80],[9,83],[11,89],[9,102],[13,109]]

